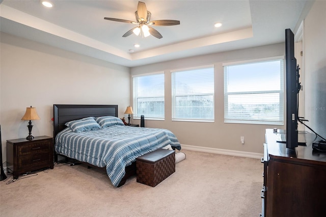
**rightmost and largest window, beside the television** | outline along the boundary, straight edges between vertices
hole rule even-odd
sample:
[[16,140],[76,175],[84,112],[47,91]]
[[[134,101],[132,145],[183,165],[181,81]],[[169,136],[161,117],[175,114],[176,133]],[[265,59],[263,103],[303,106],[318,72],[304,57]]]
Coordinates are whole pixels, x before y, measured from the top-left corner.
[[225,123],[284,124],[283,59],[223,64]]

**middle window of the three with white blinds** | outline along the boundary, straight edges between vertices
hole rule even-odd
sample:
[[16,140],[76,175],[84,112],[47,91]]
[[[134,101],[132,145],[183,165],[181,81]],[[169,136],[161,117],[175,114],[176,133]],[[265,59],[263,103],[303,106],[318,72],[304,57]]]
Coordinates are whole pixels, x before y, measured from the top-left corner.
[[214,121],[214,66],[172,71],[172,120]]

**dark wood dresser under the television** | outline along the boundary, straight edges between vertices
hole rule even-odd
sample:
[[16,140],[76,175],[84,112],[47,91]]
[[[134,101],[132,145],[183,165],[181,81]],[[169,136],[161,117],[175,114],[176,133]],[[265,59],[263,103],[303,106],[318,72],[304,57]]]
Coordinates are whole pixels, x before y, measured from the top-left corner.
[[261,216],[326,216],[326,153],[306,146],[294,149],[278,143],[273,129],[266,129]]

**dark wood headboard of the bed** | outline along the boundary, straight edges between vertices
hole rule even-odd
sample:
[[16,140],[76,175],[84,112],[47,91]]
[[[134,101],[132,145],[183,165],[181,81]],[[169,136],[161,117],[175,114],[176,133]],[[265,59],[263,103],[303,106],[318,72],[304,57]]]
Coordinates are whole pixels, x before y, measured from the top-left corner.
[[68,121],[100,116],[118,117],[118,105],[53,104],[53,138],[66,128],[65,123]]

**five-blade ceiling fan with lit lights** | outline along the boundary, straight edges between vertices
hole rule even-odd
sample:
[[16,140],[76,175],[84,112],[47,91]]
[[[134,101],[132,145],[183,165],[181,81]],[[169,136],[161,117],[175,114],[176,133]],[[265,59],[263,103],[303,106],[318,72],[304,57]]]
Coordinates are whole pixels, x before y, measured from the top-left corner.
[[118,22],[127,22],[132,24],[139,24],[138,26],[132,28],[128,32],[126,32],[122,37],[130,36],[132,33],[135,35],[139,35],[141,32],[144,37],[152,35],[158,39],[162,38],[162,35],[152,28],[151,25],[179,25],[179,20],[153,20],[150,21],[151,12],[147,11],[146,5],[143,2],[138,2],[137,11],[134,13],[136,17],[136,21],[130,21],[125,19],[117,19],[117,18],[110,18],[104,17],[104,19],[118,21]]

